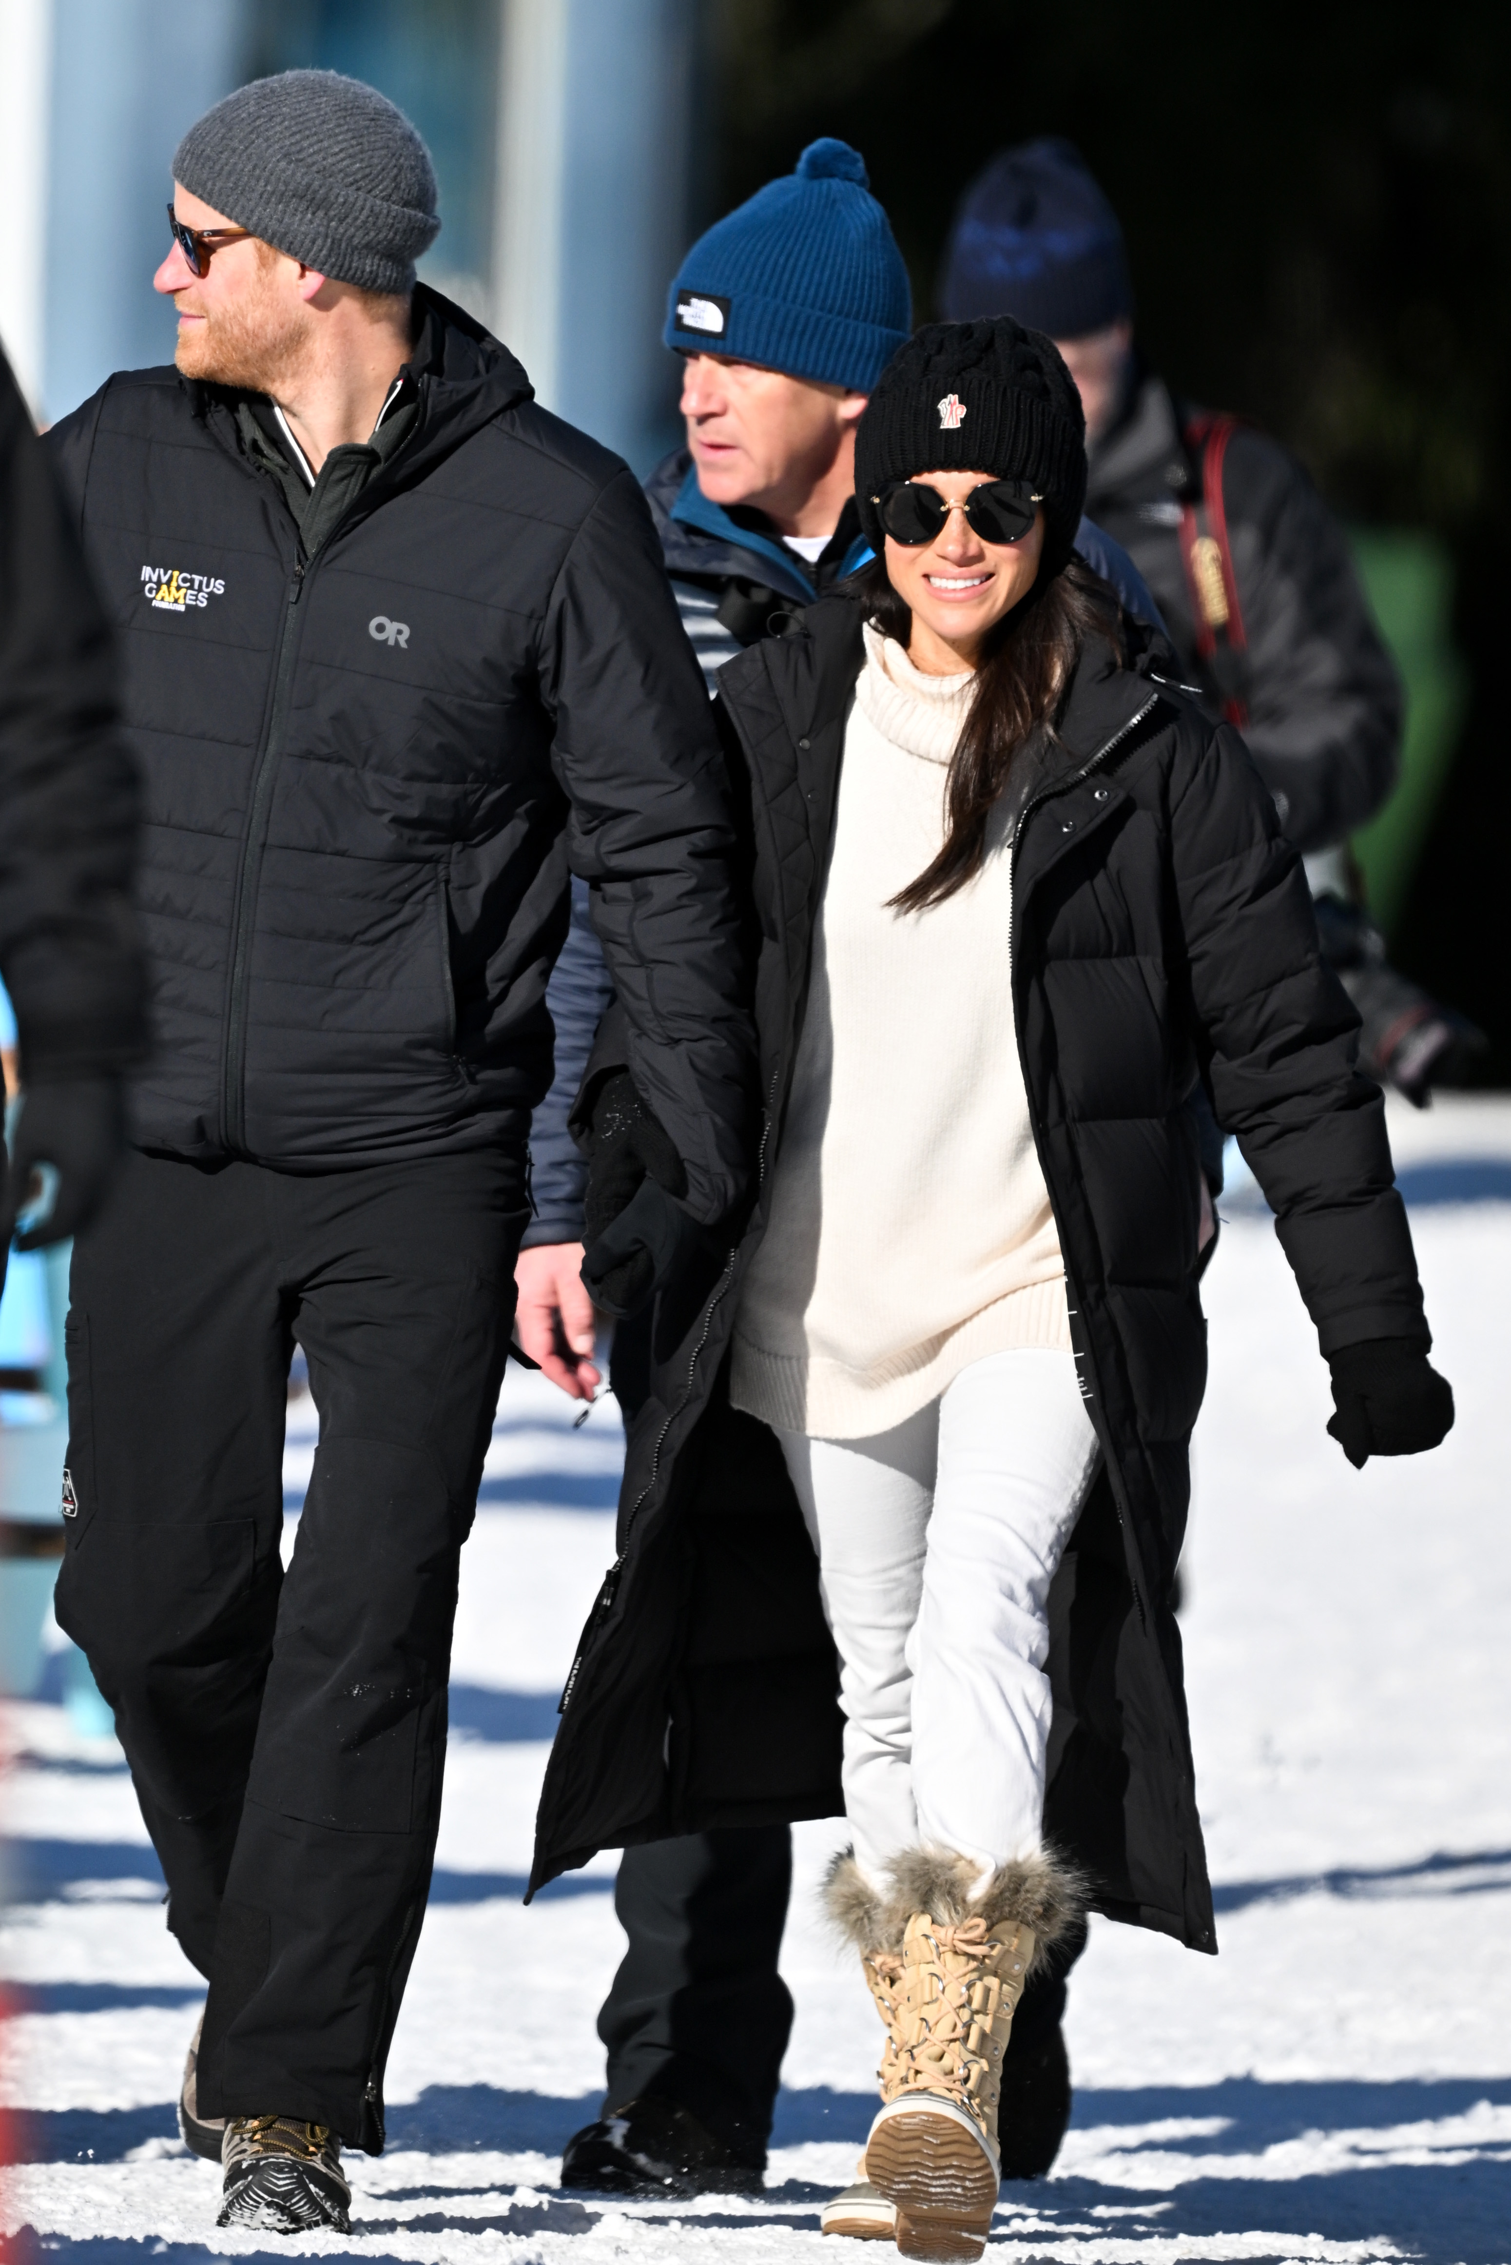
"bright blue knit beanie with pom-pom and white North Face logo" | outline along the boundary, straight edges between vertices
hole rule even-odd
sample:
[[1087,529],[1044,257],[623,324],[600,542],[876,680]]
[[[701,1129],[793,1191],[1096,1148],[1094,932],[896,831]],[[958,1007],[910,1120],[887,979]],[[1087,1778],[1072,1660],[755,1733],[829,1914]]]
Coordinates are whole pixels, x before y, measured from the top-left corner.
[[677,270],[666,344],[868,394],[913,328],[908,270],[865,159],[816,140],[700,236]]

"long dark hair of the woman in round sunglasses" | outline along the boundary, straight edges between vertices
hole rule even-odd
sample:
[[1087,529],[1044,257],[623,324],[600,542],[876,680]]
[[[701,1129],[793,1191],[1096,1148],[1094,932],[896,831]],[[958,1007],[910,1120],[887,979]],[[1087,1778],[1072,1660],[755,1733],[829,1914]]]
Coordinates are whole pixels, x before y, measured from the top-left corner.
[[[886,562],[872,559],[859,582],[874,625],[906,652],[913,612],[888,582]],[[1044,727],[1053,738],[1087,636],[1105,636],[1117,659],[1126,659],[1117,593],[1078,557],[1028,591],[990,632],[945,779],[945,845],[917,881],[890,899],[899,913],[942,904],[981,872],[992,804],[1028,736]]]

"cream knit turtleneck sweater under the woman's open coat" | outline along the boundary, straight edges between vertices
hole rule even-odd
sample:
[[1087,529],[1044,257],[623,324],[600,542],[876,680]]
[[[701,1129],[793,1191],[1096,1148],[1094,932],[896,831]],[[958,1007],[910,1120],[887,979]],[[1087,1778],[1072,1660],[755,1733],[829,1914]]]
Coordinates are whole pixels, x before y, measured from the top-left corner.
[[770,1221],[734,1325],[734,1404],[813,1438],[888,1431],[988,1352],[1072,1343],[1013,1028],[1004,827],[945,904],[888,908],[945,838],[970,698],[970,673],[927,677],[865,630]]

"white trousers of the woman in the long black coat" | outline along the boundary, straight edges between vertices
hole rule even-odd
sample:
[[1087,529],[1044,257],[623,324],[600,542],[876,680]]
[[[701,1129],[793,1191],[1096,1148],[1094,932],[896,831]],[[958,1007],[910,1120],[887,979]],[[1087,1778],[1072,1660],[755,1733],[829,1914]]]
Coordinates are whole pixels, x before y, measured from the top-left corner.
[[983,1878],[1040,1848],[1049,1583],[1096,1470],[1069,1352],[994,1352],[872,1438],[779,1431],[840,1656],[845,1814]]

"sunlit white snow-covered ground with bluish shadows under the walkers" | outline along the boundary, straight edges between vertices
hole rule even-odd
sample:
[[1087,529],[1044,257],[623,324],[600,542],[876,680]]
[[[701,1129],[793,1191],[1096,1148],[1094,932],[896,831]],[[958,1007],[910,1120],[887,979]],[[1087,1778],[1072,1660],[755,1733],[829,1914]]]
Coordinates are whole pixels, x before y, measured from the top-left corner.
[[[1074,2127],[1049,2181],[1006,2190],[1001,2265],[1511,2258],[1511,1103],[1400,1110],[1393,1135],[1459,1427],[1432,1459],[1348,1470],[1300,1300],[1237,1189],[1207,1287],[1183,1617],[1221,1957],[1094,1925],[1072,1986]],[[292,1506],[310,1452],[306,1400]],[[9,2224],[34,2229],[20,2254],[566,2265],[584,2238],[632,2265],[820,2265],[818,2202],[850,2177],[877,2057],[813,1918],[838,1823],[797,1832],[797,2029],[766,2195],[600,2206],[555,2188],[562,2140],[598,2106],[614,1862],[528,1912],[519,1894],[616,1465],[612,1402],[573,1431],[564,1400],[510,1373],[464,1554],[392,2147],[351,2163],[351,2242],[213,2231],[217,2174],[172,2118],[199,1986],[163,1932],[120,1753],[57,1706],[14,1710],[7,2070],[36,2156],[11,2174]]]

